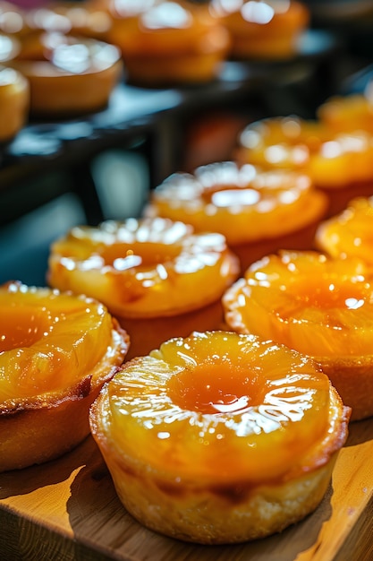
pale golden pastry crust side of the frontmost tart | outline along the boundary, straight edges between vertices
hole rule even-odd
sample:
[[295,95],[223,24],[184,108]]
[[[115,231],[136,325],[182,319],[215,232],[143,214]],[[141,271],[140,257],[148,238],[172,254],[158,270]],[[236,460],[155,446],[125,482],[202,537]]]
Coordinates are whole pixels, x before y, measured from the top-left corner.
[[[336,459],[281,485],[263,486],[242,498],[240,484],[228,488],[168,488],[151,475],[133,472],[104,451],[118,496],[131,515],[153,531],[201,544],[260,539],[301,521],[320,503]],[[240,501],[231,500],[239,496]]]

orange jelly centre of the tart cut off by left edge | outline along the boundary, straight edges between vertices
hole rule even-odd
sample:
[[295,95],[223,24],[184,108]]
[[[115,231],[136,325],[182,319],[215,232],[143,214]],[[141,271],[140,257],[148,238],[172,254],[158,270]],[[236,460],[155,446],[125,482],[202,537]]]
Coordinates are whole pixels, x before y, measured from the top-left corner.
[[0,353],[30,347],[50,331],[47,312],[25,306],[0,315]]

